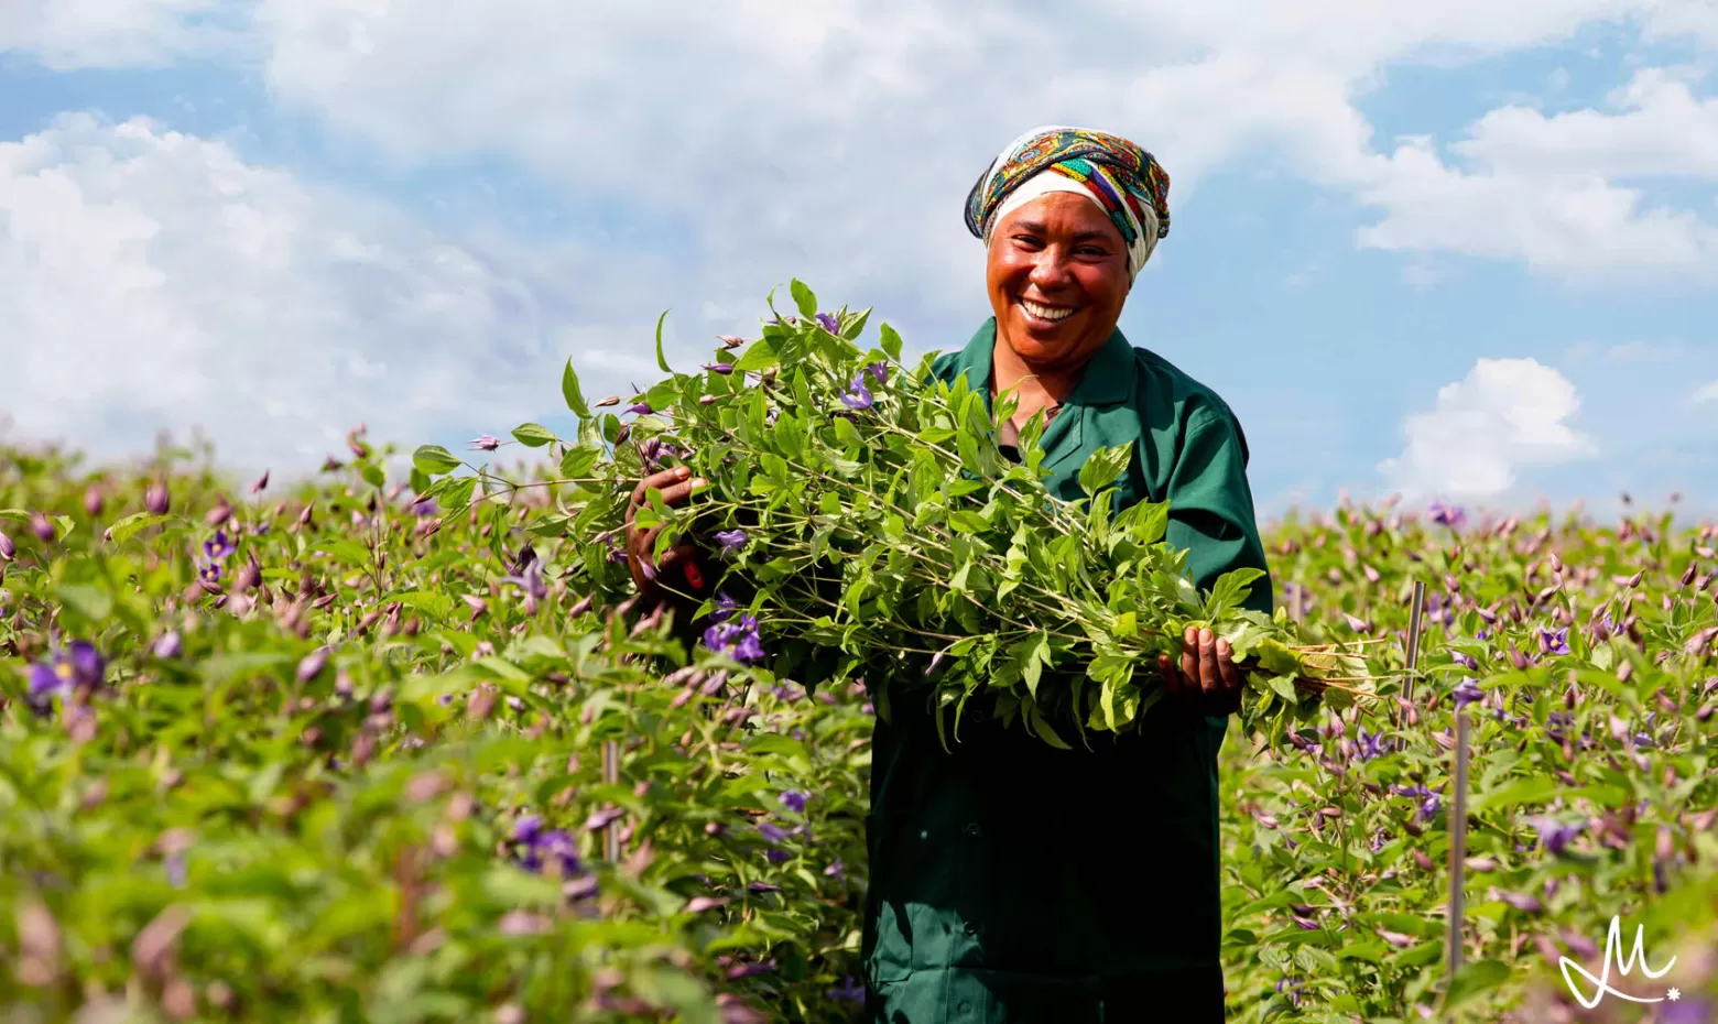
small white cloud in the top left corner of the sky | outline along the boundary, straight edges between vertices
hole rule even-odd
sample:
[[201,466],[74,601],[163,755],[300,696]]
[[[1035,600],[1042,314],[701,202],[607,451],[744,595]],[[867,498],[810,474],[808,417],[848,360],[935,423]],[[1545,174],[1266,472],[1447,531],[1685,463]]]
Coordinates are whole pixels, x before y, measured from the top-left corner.
[[[0,0],[0,53],[55,70],[156,65],[234,41],[222,0]],[[223,17],[225,15],[225,17]]]

